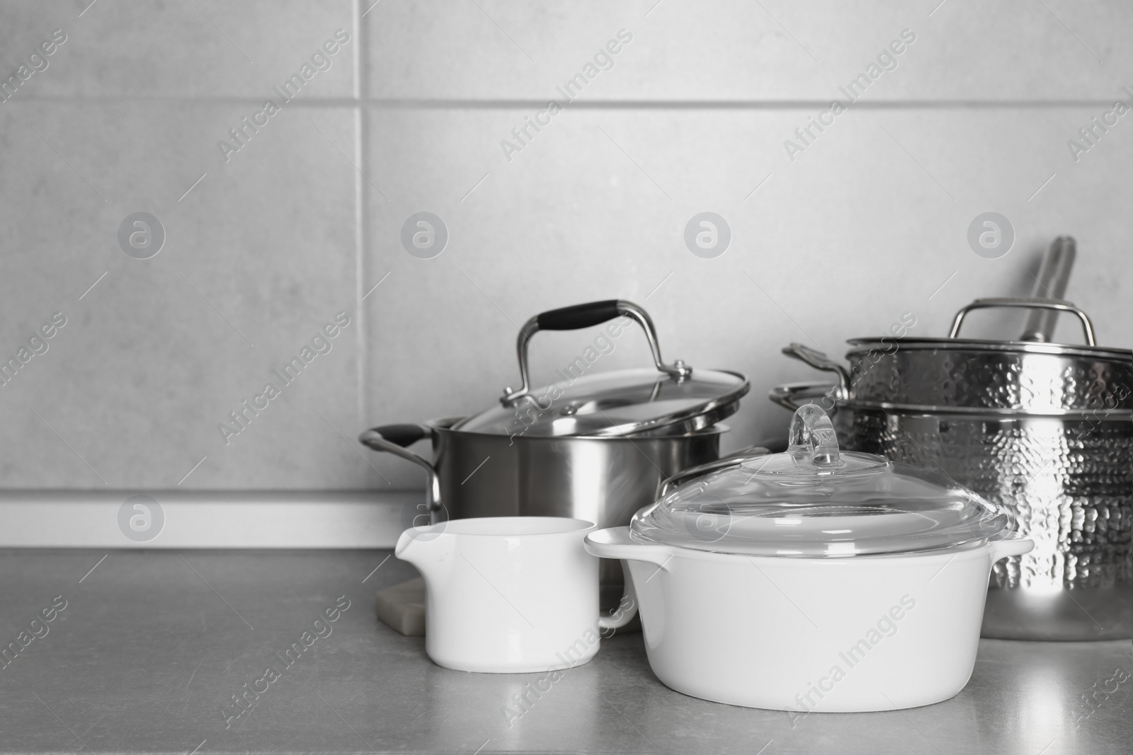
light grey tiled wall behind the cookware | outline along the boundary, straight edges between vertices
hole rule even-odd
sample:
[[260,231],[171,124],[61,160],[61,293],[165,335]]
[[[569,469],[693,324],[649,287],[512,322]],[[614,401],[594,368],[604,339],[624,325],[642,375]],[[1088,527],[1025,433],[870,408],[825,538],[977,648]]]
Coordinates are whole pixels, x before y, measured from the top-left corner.
[[[976,297],[1028,293],[1063,233],[1067,298],[1133,344],[1133,114],[1067,147],[1133,103],[1130,3],[370,1],[0,2],[3,77],[66,34],[0,103],[0,355],[66,317],[0,387],[0,486],[414,487],[360,429],[486,407],[517,380],[518,325],[615,297],[666,358],[751,377],[738,447],[783,431],[770,386],[818,377],[781,346],[840,353],[904,312],[943,335]],[[860,101],[798,139],[879,54]],[[245,117],[266,123],[225,156]],[[706,211],[732,232],[712,259],[683,239]],[[966,240],[988,211],[1016,233],[997,259]],[[165,233],[147,259],[119,242],[136,212]],[[419,212],[449,233],[431,259],[401,242]],[[272,370],[339,312],[284,385]],[[536,379],[590,338],[540,334]],[[648,355],[629,334],[604,359]]]

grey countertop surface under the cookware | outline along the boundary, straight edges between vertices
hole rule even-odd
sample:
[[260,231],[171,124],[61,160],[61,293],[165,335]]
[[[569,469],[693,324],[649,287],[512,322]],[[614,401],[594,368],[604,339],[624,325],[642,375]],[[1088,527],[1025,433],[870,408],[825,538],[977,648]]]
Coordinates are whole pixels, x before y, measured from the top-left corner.
[[[442,669],[378,624],[374,591],[416,575],[387,556],[0,550],[0,643],[20,647],[0,668],[0,752],[1133,753],[1128,642],[985,640],[949,701],[792,726],[672,692],[641,635],[620,635],[509,727],[539,675]],[[315,625],[340,595],[349,608]],[[247,712],[245,684],[266,686]]]

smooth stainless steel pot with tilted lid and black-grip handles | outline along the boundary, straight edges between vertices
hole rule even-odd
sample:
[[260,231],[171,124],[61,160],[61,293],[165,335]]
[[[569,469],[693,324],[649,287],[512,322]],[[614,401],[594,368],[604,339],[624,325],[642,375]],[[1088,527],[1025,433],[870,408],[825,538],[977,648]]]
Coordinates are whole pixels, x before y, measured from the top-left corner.
[[[580,357],[559,383],[533,389],[527,346],[538,331],[569,331],[615,320],[640,325],[655,369],[583,374]],[[612,337],[614,329],[607,333]],[[563,516],[600,527],[629,524],[653,503],[661,483],[719,458],[719,420],[749,388],[739,372],[662,361],[648,314],[628,301],[599,301],[533,317],[517,344],[522,386],[500,405],[471,417],[389,424],[363,432],[375,451],[397,454],[428,475],[432,521],[470,516]],[[586,352],[583,352],[586,354]],[[429,462],[407,449],[428,438]],[[742,453],[751,453],[750,449]],[[620,585],[616,561],[603,561],[602,582]],[[620,597],[620,591],[617,597]]]

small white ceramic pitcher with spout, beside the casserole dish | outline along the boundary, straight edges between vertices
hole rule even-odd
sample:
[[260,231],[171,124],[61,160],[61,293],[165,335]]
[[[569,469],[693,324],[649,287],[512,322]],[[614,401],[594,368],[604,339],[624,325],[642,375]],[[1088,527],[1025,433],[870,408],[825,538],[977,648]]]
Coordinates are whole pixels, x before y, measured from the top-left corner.
[[521,674],[586,663],[602,629],[636,603],[599,616],[595,525],[554,516],[453,520],[401,533],[394,555],[425,577],[425,652],[459,671]]

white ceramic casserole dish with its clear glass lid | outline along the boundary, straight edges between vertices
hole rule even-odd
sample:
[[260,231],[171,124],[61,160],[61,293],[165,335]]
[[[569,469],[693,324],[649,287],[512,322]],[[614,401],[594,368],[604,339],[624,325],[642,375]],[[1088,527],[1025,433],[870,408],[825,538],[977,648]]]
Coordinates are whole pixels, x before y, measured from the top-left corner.
[[800,715],[952,697],[993,564],[1032,541],[930,472],[840,454],[813,404],[791,439],[587,537],[629,565],[649,666],[678,692]]

